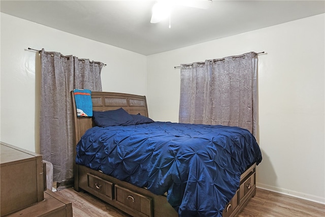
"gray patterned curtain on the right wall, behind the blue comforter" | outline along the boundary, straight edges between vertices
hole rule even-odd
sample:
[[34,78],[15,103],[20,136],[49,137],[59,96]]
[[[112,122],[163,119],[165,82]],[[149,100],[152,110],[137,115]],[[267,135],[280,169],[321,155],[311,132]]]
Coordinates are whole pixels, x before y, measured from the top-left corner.
[[257,54],[181,65],[179,122],[238,126],[256,135]]

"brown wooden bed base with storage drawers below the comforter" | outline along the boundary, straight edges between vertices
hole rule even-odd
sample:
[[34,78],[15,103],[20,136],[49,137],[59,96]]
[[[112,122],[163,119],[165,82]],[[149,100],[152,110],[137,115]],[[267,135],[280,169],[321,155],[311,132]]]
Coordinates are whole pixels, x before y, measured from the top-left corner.
[[[77,168],[78,185],[75,185],[76,191],[81,188],[132,216],[177,216],[177,212],[167,202],[165,196],[154,195],[146,189],[134,187],[132,184],[84,166],[78,165]],[[223,217],[233,217],[238,214],[249,199],[255,195],[255,174],[256,164],[241,175],[240,188],[225,206],[222,213]]]

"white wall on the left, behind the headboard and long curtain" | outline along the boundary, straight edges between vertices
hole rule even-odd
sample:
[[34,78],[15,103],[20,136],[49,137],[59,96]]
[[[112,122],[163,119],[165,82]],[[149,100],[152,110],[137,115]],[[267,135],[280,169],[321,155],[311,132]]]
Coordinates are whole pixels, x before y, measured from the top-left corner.
[[147,94],[146,56],[1,13],[1,137],[39,151],[40,57],[27,48],[102,61],[103,91]]

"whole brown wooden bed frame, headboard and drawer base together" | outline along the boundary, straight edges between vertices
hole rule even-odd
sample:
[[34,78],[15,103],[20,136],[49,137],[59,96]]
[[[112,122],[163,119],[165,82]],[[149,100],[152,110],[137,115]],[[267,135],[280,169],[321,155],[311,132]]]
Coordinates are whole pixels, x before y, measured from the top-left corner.
[[[123,108],[129,114],[148,117],[145,96],[121,94],[115,92],[92,92],[93,111],[108,111]],[[94,126],[91,117],[77,117],[76,103],[72,91],[74,110],[74,144],[78,143],[82,135]],[[76,147],[74,146],[74,159]],[[75,161],[74,161],[75,162]],[[249,167],[242,175],[240,188],[229,204],[225,206],[223,216],[235,216],[255,195],[256,164]],[[132,216],[178,216],[175,209],[168,203],[166,196],[155,195],[150,191],[121,181],[100,171],[74,163],[74,189],[81,189],[104,200],[116,208]]]

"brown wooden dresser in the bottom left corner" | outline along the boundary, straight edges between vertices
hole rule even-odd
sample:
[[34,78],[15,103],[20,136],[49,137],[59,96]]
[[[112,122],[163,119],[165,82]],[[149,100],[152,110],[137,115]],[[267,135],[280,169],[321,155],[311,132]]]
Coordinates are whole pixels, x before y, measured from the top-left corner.
[[1,142],[0,216],[72,216],[71,202],[46,190],[42,155]]

